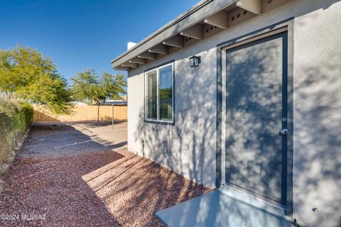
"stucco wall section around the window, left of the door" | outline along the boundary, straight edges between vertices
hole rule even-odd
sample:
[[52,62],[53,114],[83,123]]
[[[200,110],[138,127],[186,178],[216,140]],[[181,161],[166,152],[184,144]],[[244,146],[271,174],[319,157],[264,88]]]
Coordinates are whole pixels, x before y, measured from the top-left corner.
[[[217,87],[212,66],[216,52],[197,44],[129,73],[134,76],[128,78],[128,147],[185,177],[215,187]],[[189,67],[187,59],[194,53],[202,55],[202,64],[196,69]],[[175,124],[144,123],[144,70],[169,60],[175,60]]]

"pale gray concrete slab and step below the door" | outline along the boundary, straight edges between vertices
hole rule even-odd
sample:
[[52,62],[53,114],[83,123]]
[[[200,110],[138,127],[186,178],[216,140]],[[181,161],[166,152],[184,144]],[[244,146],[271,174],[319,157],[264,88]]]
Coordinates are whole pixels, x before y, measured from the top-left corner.
[[156,213],[170,227],[293,227],[283,209],[222,187]]

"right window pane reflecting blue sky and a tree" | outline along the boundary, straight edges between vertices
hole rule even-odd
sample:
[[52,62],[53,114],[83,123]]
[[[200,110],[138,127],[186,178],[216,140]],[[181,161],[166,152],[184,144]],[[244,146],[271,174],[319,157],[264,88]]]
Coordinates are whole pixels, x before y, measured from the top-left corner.
[[158,71],[158,115],[159,120],[173,119],[173,72],[172,66],[163,67]]

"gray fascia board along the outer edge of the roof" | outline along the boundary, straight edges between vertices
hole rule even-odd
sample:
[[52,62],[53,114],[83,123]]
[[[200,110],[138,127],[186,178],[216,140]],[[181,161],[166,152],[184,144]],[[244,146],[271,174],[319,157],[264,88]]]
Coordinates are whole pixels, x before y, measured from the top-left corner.
[[[148,51],[148,49],[152,48],[158,43],[162,43],[163,40],[166,40],[167,38],[170,38],[173,35],[176,35],[180,33],[181,31],[184,31],[185,29],[190,28],[196,23],[199,23],[200,21],[202,21],[204,18],[207,18],[208,16],[212,16],[212,14],[216,13],[217,11],[220,11],[221,9],[224,9],[227,6],[234,4],[236,1],[237,0],[215,0],[215,1],[209,1],[209,4],[205,4],[207,1],[204,1],[203,3],[205,4],[205,6],[202,6],[200,9],[197,9],[197,11],[194,11],[194,12],[190,11],[189,12],[190,14],[186,17],[184,15],[183,16],[184,18],[182,20],[178,21],[172,26],[169,26],[168,28],[166,28],[164,31],[161,31],[160,33],[158,33],[157,31],[156,33],[153,33],[152,35],[149,35],[146,39],[142,40],[140,43],[135,45],[134,48],[127,50],[122,55],[119,55],[119,57],[112,60],[112,67],[117,67],[123,64],[124,62],[127,62],[131,58],[136,57],[141,52]],[[173,23],[173,21],[171,21],[170,23]],[[160,30],[162,29],[163,28],[161,28]]]

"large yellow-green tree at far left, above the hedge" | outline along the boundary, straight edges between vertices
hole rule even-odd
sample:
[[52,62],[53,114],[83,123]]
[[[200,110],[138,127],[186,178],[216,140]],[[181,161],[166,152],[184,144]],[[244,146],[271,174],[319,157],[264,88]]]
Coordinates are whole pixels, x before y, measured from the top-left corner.
[[7,99],[44,104],[55,114],[70,112],[71,91],[52,60],[21,45],[0,49],[0,93]]

